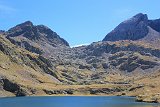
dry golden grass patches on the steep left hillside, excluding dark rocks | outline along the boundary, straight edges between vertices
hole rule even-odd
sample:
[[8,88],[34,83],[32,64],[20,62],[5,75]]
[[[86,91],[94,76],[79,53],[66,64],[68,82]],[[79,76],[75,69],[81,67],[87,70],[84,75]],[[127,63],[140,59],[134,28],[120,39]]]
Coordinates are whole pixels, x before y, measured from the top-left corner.
[[[14,48],[14,51],[16,52],[15,54],[21,54],[24,56],[26,54],[29,54],[33,57],[37,57],[36,54],[30,53],[21,48],[17,48],[3,36],[0,36],[0,41],[2,44]],[[12,57],[16,58],[17,56],[15,55]],[[56,79],[54,77],[44,72],[34,70],[33,68],[26,66],[25,64],[15,63],[14,61],[11,60],[10,56],[4,54],[2,51],[0,51],[0,77],[7,78],[13,83],[20,85],[22,88],[27,89],[28,92],[30,92],[30,90],[34,90],[37,88],[39,88],[40,90],[43,88],[48,88],[48,84],[52,85],[56,84]],[[1,91],[3,92],[5,90],[1,88]],[[4,93],[1,93],[1,91],[0,95],[4,96],[3,95]],[[6,96],[8,96],[7,93],[9,92],[6,92]],[[12,96],[13,94],[10,93],[10,95]]]

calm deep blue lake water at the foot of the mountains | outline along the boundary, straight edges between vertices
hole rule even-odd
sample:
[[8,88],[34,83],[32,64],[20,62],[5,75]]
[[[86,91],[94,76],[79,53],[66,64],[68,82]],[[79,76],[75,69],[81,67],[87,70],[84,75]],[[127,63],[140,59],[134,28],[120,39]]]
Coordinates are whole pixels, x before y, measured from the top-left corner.
[[160,105],[135,102],[133,97],[57,96],[0,98],[0,107],[160,107]]

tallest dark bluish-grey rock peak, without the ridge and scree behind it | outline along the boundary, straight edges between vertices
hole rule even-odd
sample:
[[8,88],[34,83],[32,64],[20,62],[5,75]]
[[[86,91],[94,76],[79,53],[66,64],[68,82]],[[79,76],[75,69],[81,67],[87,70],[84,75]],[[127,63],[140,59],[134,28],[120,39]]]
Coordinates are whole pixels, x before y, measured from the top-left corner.
[[138,40],[148,34],[148,17],[139,13],[120,23],[113,31],[108,33],[103,41]]

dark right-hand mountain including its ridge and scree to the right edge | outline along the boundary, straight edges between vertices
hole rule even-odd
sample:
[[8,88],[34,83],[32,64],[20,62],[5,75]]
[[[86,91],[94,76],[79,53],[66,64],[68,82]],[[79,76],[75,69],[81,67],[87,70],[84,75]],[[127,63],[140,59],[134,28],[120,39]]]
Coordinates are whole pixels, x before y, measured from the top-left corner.
[[151,42],[153,45],[158,46],[160,40],[159,26],[160,19],[148,20],[146,14],[139,13],[120,23],[113,31],[105,36],[103,41],[145,40],[147,42]]

